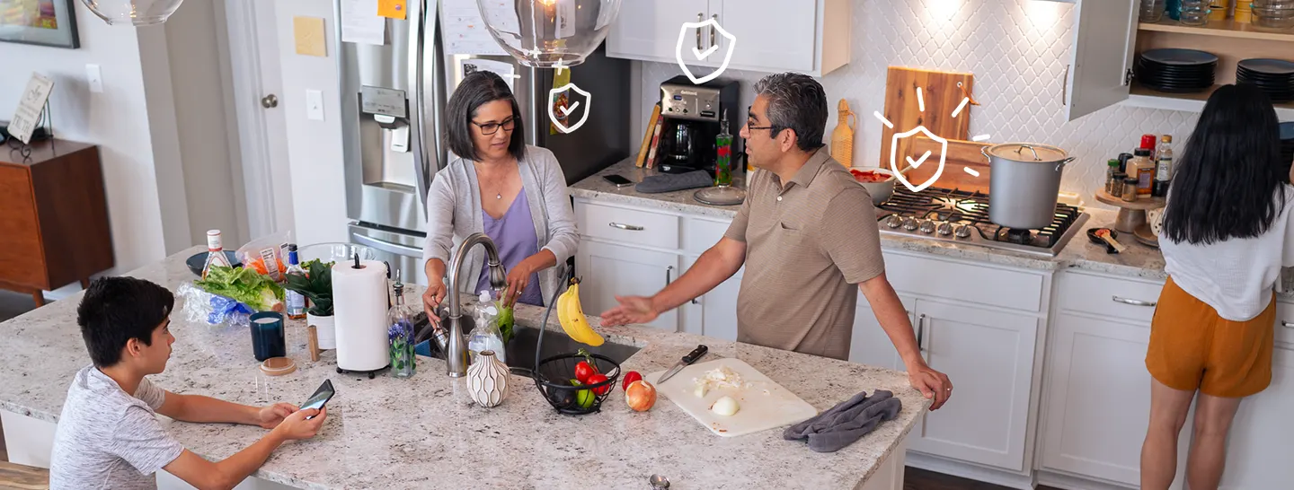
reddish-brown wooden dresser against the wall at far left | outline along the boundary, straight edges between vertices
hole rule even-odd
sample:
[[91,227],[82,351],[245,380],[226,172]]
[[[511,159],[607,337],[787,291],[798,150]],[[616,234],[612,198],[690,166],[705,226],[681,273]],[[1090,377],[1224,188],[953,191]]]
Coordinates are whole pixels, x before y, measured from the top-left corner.
[[98,147],[41,141],[26,158],[0,145],[0,288],[31,293],[111,269],[113,237]]

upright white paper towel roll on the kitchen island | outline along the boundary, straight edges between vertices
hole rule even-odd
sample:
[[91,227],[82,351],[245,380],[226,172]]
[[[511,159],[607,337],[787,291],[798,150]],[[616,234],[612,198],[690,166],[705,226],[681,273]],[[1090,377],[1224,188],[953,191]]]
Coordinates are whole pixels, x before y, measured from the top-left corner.
[[333,265],[336,367],[377,371],[391,363],[387,344],[387,266],[375,260]]

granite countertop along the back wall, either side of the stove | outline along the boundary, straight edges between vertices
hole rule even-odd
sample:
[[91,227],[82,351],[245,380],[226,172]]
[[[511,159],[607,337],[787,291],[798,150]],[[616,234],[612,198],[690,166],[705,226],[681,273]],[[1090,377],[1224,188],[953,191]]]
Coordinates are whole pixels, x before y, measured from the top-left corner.
[[[700,215],[731,220],[736,216],[738,206],[708,206],[696,202],[692,194],[695,189],[673,193],[642,194],[633,186],[616,187],[602,176],[619,173],[631,181],[641,182],[643,177],[657,173],[653,169],[637,168],[633,159],[625,159],[611,165],[593,177],[585,178],[571,186],[571,194],[577,198],[598,199],[641,207],[653,207],[679,213]],[[744,177],[744,175],[743,175]],[[740,185],[740,180],[734,177],[734,185]],[[1088,228],[1112,226],[1115,212],[1099,208],[1084,208],[1088,221],[1083,230]],[[1091,243],[1082,230],[1061,250],[1055,257],[1043,257],[1029,253],[1016,253],[1002,250],[992,250],[974,244],[952,243],[945,240],[928,239],[921,237],[881,234],[881,247],[889,250],[906,250],[942,255],[956,259],[985,261],[1007,266],[1026,269],[1082,269],[1101,272],[1117,275],[1148,278],[1163,281],[1163,256],[1157,248],[1137,243],[1131,237],[1121,239],[1128,247],[1121,253],[1106,253],[1104,246]]]

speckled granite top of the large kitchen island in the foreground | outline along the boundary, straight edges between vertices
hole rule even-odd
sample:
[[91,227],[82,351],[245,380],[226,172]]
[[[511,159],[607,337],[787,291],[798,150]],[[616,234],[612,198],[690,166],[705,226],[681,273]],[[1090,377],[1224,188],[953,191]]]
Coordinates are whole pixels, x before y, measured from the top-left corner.
[[[184,259],[201,251],[190,248],[127,275],[175,291],[194,278]],[[0,409],[57,423],[72,375],[89,363],[75,325],[80,295],[0,323],[5,339],[0,344]],[[417,299],[421,290],[406,295]],[[854,445],[819,454],[802,442],[784,441],[780,429],[714,436],[665,397],[650,411],[634,412],[620,389],[602,412],[560,415],[531,379],[515,375],[503,405],[483,409],[467,399],[462,380],[448,378],[439,359],[419,357],[411,379],[380,374],[373,380],[336,374],[335,352],[311,362],[302,321],[290,321],[287,327],[289,357],[298,370],[268,378],[251,356],[246,330],[188,321],[181,301],[172,314],[173,353],[167,371],[150,376],[155,384],[176,393],[265,405],[299,403],[324,379],[333,380],[338,394],[321,433],[283,445],[254,474],[296,487],[626,489],[646,487],[648,476],[660,473],[678,489],[853,489],[877,469],[929,406],[903,372],[629,326],[597,327],[608,341],[642,348],[624,362],[624,370],[664,370],[705,344],[710,348],[707,359],[740,358],[819,411],[876,389],[894,392],[903,410]],[[519,305],[516,321],[537,326],[542,314],[540,308]],[[599,319],[591,317],[590,323],[597,326]],[[560,331],[555,318],[547,328]],[[208,459],[228,458],[265,433],[248,425],[160,419],[185,447]]]

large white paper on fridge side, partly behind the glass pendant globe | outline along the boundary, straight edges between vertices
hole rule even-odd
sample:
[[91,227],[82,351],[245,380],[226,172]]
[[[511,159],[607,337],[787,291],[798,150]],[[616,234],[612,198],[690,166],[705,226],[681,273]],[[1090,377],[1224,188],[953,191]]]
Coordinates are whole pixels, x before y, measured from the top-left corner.
[[499,32],[520,35],[521,22],[514,1],[483,0],[477,8],[476,0],[441,0],[441,28],[445,30],[448,54],[507,56],[485,27],[483,12],[494,19],[494,28]]

